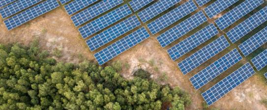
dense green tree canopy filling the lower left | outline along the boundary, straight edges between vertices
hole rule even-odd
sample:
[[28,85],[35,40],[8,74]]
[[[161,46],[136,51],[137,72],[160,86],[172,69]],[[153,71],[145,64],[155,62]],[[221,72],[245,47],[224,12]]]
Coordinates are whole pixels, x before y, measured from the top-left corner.
[[0,110],[183,110],[182,90],[89,62],[57,63],[30,47],[0,45]]

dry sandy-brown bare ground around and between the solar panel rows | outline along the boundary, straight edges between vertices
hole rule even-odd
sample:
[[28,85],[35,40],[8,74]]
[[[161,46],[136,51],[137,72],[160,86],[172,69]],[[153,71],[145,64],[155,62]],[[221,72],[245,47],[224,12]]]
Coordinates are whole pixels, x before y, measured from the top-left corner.
[[[179,20],[179,22],[180,21],[183,20]],[[244,18],[238,20],[237,23],[232,25],[230,28],[236,26],[242,21],[244,21]],[[267,26],[267,24],[265,24],[265,26]],[[201,28],[199,27],[198,29]],[[179,41],[195,32],[196,29],[191,31],[190,33],[187,33],[181,39],[175,41],[175,43],[173,44],[177,44]],[[250,37],[253,34],[255,34],[255,32],[251,32],[246,37]],[[191,94],[192,97],[192,105],[188,107],[187,110],[202,109],[203,104],[205,103],[203,98],[201,97],[202,92],[225,78],[228,74],[235,71],[235,69],[241,66],[241,64],[246,63],[246,61],[259,54],[259,52],[256,52],[255,55],[249,55],[247,57],[249,59],[242,59],[241,62],[238,62],[237,65],[227,70],[223,75],[219,76],[211,83],[208,83],[199,90],[195,90],[189,82],[189,78],[196,74],[198,71],[207,67],[213,61],[225,55],[227,52],[230,52],[232,49],[236,48],[237,45],[231,44],[231,49],[228,48],[215,57],[212,57],[199,68],[184,76],[177,68],[177,63],[181,60],[173,61],[166,52],[166,49],[170,48],[173,45],[167,46],[166,49],[162,48],[157,42],[157,36],[157,34],[151,35],[151,37],[144,42],[109,61],[108,64],[115,61],[122,62],[125,68],[120,73],[125,78],[131,79],[132,73],[138,68],[142,68],[152,73],[152,78],[159,83],[168,83],[171,86],[179,86],[180,88],[186,90]],[[217,37],[218,36],[220,35],[217,35]],[[119,38],[122,37],[123,36]],[[51,50],[52,54],[60,52],[62,54],[62,56],[60,57],[51,55],[51,57],[54,57],[59,61],[78,63],[83,61],[84,59],[88,59],[96,63],[96,60],[93,56],[94,53],[89,51],[84,39],[80,36],[77,28],[73,25],[69,15],[65,12],[63,6],[60,6],[59,8],[48,12],[47,14],[44,14],[41,17],[38,17],[30,21],[29,23],[26,23],[25,25],[15,28],[11,31],[8,31],[6,29],[2,19],[0,19],[0,43],[8,44],[17,42],[27,45],[35,38],[39,39],[40,46],[43,50]],[[213,40],[214,39],[215,38],[213,37]],[[114,42],[115,41],[111,43]],[[197,50],[203,48],[210,42],[211,40],[200,45],[197,49],[194,49],[193,51],[187,53],[180,59],[184,59],[187,56],[197,52]],[[240,43],[241,42],[239,41],[236,44]],[[265,44],[262,47],[266,49],[267,45]],[[101,49],[103,48],[100,48],[99,50]],[[167,80],[160,80],[160,78],[162,78],[162,76],[164,75],[166,75]],[[262,99],[267,98],[267,84],[265,83],[265,80],[266,79],[264,79],[263,73],[257,73],[252,78],[248,79],[246,82],[242,83],[229,94],[224,96],[222,99],[214,103],[210,107],[210,109],[219,108],[221,110],[267,110],[267,108],[261,103]]]

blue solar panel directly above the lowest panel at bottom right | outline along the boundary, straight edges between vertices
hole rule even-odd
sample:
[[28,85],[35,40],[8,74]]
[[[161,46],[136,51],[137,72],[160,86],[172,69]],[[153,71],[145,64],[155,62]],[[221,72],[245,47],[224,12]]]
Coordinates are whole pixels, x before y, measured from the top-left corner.
[[229,69],[231,66],[236,64],[242,59],[242,56],[238,53],[237,49],[229,52],[210,64],[205,69],[190,78],[190,82],[193,84],[195,89],[199,89],[217,76],[222,74],[224,71]]

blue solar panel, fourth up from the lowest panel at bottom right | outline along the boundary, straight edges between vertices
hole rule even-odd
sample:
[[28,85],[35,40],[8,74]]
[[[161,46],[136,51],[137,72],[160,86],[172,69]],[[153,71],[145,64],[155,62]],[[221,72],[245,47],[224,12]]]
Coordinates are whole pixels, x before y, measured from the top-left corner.
[[213,24],[199,30],[190,37],[184,39],[174,47],[170,48],[167,52],[173,60],[178,59],[180,56],[185,55],[197,46],[206,42],[208,39],[219,33]]

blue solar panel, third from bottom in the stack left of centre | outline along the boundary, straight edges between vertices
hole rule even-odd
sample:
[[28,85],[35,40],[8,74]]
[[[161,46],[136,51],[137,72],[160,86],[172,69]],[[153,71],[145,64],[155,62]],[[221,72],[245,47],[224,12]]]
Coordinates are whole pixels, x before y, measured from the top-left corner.
[[87,25],[80,27],[79,32],[83,38],[86,38],[97,31],[114,24],[120,19],[132,14],[131,9],[127,4],[120,6],[119,8],[109,12],[108,14],[88,23]]

